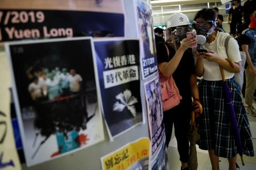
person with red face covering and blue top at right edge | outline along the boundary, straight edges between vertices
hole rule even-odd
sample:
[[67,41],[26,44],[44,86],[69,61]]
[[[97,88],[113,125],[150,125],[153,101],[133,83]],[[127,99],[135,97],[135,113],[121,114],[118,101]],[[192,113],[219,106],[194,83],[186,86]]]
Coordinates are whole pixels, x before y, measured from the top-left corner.
[[242,36],[245,36],[245,43],[242,44],[242,51],[245,51],[246,53],[245,103],[247,105],[247,113],[256,117],[256,110],[253,107],[254,92],[256,89],[256,9],[251,13],[250,21],[249,28],[242,32]]

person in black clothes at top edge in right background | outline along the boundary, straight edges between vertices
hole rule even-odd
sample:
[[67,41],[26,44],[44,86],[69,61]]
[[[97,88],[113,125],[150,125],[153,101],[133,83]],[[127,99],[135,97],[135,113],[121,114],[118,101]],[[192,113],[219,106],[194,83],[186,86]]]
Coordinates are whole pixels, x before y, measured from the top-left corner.
[[240,2],[238,0],[233,0],[232,2],[233,6],[229,9],[228,14],[228,24],[230,24],[230,35],[236,38],[237,36],[240,36],[242,33],[241,24],[243,6],[240,5]]

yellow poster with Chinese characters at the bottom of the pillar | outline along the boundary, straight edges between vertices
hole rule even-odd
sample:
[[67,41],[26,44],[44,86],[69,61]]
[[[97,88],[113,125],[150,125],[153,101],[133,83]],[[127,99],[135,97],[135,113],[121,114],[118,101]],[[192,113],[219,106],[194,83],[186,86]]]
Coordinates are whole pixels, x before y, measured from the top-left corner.
[[140,138],[101,157],[104,170],[150,169],[150,139]]

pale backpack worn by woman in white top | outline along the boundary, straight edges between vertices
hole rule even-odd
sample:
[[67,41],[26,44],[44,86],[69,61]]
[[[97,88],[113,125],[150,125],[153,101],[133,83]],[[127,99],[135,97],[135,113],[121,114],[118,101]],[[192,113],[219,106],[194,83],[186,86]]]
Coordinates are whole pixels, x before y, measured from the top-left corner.
[[[228,43],[229,43],[229,39],[233,38],[233,36],[228,36],[225,39],[225,49],[226,49],[226,54],[228,55]],[[240,72],[239,73],[235,73],[234,79],[238,82],[238,84],[240,85],[240,88],[242,89],[243,87],[243,72],[245,71],[245,62],[246,62],[246,54],[244,51],[240,51],[240,56],[241,56],[241,66],[240,66]]]

